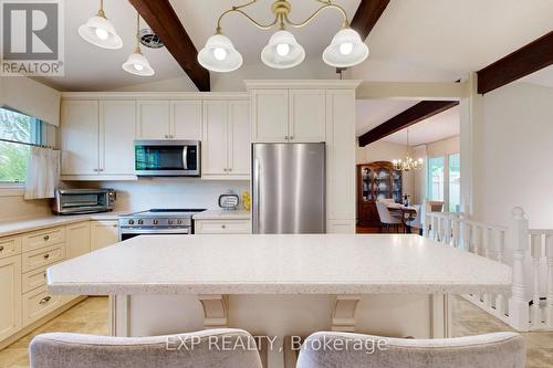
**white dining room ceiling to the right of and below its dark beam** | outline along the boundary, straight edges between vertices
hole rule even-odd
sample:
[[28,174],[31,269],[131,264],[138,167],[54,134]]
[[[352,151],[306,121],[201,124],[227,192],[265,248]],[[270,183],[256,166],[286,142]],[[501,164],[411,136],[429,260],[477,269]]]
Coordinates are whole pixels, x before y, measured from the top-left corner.
[[[409,146],[429,144],[436,140],[459,135],[460,124],[459,106],[435,115],[426,120],[409,127]],[[383,138],[383,140],[405,145],[407,143],[407,129],[399,130]]]

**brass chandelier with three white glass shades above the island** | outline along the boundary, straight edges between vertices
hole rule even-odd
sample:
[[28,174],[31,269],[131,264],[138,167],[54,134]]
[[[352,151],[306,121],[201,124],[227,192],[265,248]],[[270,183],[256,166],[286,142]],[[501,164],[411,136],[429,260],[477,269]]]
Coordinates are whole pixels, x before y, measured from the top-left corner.
[[248,3],[232,7],[225,11],[217,21],[216,34],[210,36],[204,49],[198,53],[200,65],[212,72],[232,72],[242,66],[243,59],[229,38],[222,34],[221,22],[230,13],[244,17],[250,23],[261,30],[278,28],[270,38],[267,46],[261,51],[261,61],[273,69],[294,67],[305,59],[305,50],[298,43],[295,36],[286,31],[286,28],[303,28],[310,24],[322,11],[326,9],[336,10],[342,15],[342,30],[333,38],[331,44],[323,52],[323,61],[334,67],[349,67],[365,61],[368,56],[368,48],[361,40],[357,32],[349,28],[349,20],[345,10],[331,0],[313,0],[321,7],[302,22],[290,20],[292,6],[288,0],[276,0],[271,7],[274,21],[262,24],[250,17],[244,9],[258,2],[251,0]]

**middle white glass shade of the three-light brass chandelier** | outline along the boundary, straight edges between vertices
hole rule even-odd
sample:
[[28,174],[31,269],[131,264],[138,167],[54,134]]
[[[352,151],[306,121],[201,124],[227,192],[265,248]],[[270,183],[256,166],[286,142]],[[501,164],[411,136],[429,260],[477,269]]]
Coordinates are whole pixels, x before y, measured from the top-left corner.
[[294,67],[305,59],[305,50],[288,31],[278,31],[261,51],[261,61],[273,69]]

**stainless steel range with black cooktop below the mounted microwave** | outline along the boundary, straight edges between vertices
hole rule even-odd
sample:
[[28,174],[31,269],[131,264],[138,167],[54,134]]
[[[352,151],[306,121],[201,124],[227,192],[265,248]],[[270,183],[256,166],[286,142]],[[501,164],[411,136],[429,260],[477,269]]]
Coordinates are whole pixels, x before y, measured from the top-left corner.
[[153,209],[119,217],[119,241],[138,235],[192,234],[198,209]]

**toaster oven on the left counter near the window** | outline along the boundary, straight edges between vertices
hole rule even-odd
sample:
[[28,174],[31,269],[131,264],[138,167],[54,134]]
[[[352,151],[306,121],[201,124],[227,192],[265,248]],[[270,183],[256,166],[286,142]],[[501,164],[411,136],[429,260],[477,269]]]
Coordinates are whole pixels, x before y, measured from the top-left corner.
[[58,214],[107,212],[115,206],[113,189],[58,189],[52,210]]

